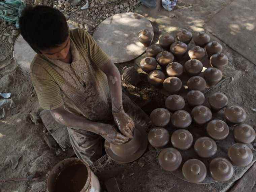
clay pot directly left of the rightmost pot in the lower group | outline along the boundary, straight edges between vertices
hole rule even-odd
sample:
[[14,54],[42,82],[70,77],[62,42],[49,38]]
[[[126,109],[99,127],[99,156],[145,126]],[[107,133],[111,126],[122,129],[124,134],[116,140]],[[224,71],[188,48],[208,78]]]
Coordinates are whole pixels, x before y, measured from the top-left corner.
[[213,139],[223,140],[229,134],[229,127],[224,121],[216,119],[207,124],[206,131]]

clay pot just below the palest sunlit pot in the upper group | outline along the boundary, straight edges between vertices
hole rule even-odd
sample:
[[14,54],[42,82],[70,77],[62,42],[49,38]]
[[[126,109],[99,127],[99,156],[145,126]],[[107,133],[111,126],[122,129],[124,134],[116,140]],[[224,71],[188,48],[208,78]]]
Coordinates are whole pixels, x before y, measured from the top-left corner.
[[184,69],[189,76],[199,75],[203,69],[203,64],[197,59],[191,59],[186,61]]

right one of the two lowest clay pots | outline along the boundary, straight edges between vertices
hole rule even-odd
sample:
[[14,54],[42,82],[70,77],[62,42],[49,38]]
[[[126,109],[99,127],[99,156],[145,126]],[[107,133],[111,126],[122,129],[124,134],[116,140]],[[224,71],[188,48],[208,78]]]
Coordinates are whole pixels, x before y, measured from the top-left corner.
[[233,165],[229,160],[218,157],[211,161],[209,166],[212,178],[215,181],[228,181],[234,174]]

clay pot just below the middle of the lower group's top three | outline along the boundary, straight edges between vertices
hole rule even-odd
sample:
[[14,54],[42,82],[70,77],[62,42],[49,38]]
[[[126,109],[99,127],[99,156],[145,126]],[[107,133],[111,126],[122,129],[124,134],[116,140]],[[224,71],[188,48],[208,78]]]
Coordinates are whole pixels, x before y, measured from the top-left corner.
[[211,110],[203,105],[194,107],[191,111],[191,116],[196,124],[203,125],[212,119]]

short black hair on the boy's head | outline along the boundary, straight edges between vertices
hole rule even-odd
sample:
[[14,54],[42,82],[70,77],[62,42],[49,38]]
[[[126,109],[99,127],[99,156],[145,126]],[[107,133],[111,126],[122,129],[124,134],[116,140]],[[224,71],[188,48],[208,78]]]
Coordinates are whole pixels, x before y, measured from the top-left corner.
[[69,33],[64,14],[49,6],[27,6],[19,24],[21,35],[37,53],[58,47],[67,40]]

